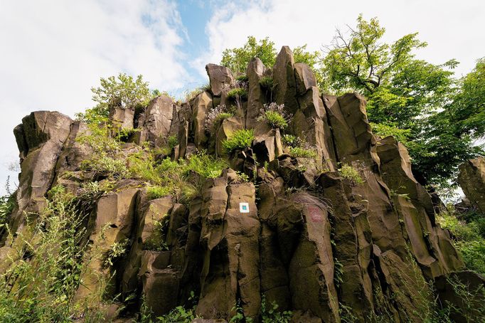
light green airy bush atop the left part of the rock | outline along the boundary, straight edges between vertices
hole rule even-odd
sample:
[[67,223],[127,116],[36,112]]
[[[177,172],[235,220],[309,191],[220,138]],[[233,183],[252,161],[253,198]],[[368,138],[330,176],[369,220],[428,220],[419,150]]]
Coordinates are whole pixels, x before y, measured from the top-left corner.
[[101,78],[100,83],[100,87],[91,88],[92,100],[97,105],[84,113],[78,113],[78,120],[87,123],[103,122],[107,120],[111,107],[135,110],[145,107],[153,97],[160,94],[158,90],[149,90],[142,75],[134,79],[131,75],[119,73],[117,77]]

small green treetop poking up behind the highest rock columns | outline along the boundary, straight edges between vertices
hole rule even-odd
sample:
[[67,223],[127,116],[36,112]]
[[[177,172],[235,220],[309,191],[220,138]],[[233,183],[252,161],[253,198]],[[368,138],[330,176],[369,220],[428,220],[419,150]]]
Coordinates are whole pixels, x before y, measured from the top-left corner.
[[254,36],[248,36],[247,42],[240,48],[227,48],[223,51],[220,65],[230,68],[233,73],[245,73],[247,64],[252,58],[260,58],[265,66],[272,66],[276,60],[275,43],[269,38],[256,41]]

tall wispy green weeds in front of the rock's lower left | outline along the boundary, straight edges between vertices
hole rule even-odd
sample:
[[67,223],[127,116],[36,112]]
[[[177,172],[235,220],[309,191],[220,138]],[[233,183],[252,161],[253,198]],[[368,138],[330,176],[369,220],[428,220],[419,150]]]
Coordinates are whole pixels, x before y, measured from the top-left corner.
[[81,243],[84,216],[62,186],[49,196],[12,245],[11,265],[0,277],[1,322],[68,322],[75,311],[73,296],[89,263]]

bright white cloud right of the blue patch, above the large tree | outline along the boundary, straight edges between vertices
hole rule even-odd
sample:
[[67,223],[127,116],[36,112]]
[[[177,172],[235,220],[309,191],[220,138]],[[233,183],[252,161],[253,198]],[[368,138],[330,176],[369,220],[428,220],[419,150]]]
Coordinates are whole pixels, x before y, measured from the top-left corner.
[[206,26],[210,51],[191,63],[202,75],[205,63],[218,63],[224,48],[242,46],[248,35],[269,36],[278,50],[304,43],[319,50],[331,42],[336,27],[354,25],[358,14],[366,19],[377,16],[386,28],[386,41],[418,31],[429,46],[417,56],[432,63],[457,58],[458,75],[468,73],[475,60],[485,55],[482,0],[269,0],[218,5]]

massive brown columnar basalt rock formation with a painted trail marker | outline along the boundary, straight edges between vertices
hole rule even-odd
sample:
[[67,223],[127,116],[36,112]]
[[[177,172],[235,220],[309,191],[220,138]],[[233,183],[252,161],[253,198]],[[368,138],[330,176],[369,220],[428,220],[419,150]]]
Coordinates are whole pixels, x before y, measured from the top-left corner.
[[[206,179],[188,203],[173,196],[149,200],[137,179],[120,180],[97,196],[85,224],[88,243],[105,251],[122,240],[131,243],[116,268],[90,263],[92,275],[83,277],[75,298],[89,297],[107,275],[112,295],[137,295],[132,312],[144,299],[154,315],[166,314],[195,292],[196,313],[214,319],[197,322],[229,320],[236,303],[257,322],[262,297],[279,310],[292,310],[294,322],[341,322],[348,312],[358,322],[383,315],[419,322],[431,301],[423,296],[426,282],[460,272],[463,263],[435,221],[430,194],[412,175],[407,149],[371,132],[365,98],[321,94],[314,74],[294,63],[288,47],[272,67],[253,59],[245,85],[228,68],[209,64],[206,70],[210,90],[189,102],[156,97],[143,113],[114,109],[110,120],[137,128],[124,145],[127,151],[144,143],[158,147],[176,136],[172,159],[206,149],[228,159],[231,168]],[[271,93],[260,85],[263,77],[274,80]],[[247,97],[228,97],[235,86],[245,86]],[[315,158],[292,157],[282,131],[257,119],[271,100],[292,115],[285,133],[307,142]],[[209,133],[206,118],[221,104],[237,113]],[[252,147],[225,154],[221,143],[237,129],[254,129]],[[90,147],[76,140],[88,132],[82,122],[47,111],[31,113],[14,129],[21,174],[18,206],[9,218],[12,232],[25,230],[26,214],[41,211],[54,185],[76,194],[83,181],[92,180],[80,169]],[[343,176],[343,165],[362,183]],[[66,171],[68,179],[62,176]],[[240,173],[250,181],[238,180]],[[167,248],[154,250],[156,223],[167,217]],[[14,236],[2,237],[2,268]]]

